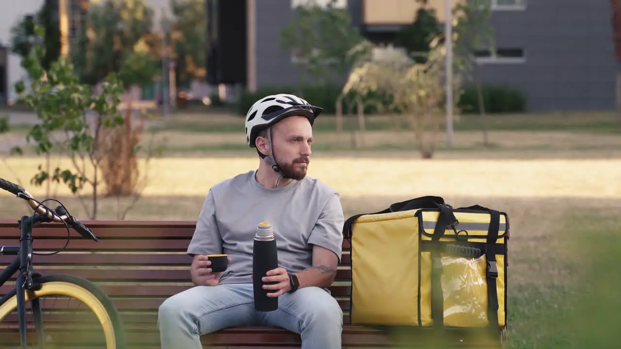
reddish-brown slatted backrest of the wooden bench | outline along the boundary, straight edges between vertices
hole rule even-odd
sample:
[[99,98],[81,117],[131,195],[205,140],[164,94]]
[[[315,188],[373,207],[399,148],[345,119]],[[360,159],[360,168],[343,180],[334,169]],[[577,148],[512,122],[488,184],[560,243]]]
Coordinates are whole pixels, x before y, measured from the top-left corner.
[[[191,288],[191,258],[186,248],[195,222],[84,220],[99,242],[86,240],[70,230],[71,240],[56,255],[33,256],[34,268],[46,274],[73,274],[97,284],[114,301],[127,323],[155,324],[158,306],[173,294]],[[16,220],[0,220],[0,246],[18,246]],[[67,231],[62,224],[45,224],[33,230],[35,252],[62,248]],[[5,267],[15,256],[0,255]],[[330,287],[343,309],[347,324],[351,288],[350,246],[343,240],[342,263]],[[0,288],[0,295],[14,287],[14,275]]]

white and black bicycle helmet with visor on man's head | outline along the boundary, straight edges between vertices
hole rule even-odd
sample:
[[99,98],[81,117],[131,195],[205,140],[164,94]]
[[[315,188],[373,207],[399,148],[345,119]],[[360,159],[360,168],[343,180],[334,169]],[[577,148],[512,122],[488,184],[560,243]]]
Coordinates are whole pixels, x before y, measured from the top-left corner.
[[[280,93],[263,97],[256,101],[246,114],[246,142],[250,148],[256,148],[256,136],[261,130],[268,129],[271,125],[289,116],[307,117],[312,126],[317,116],[319,116],[323,110],[324,109],[320,107],[312,106],[309,102],[293,94]],[[267,137],[271,149],[271,134],[269,130]],[[282,174],[272,156],[265,156],[260,152],[258,153],[261,158],[270,163],[274,171]]]

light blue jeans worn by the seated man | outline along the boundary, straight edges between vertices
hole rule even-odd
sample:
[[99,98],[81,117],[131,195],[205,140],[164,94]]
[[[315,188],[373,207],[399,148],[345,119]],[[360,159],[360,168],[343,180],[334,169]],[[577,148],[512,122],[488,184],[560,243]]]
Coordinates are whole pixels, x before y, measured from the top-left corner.
[[343,312],[322,288],[301,288],[278,298],[278,309],[258,312],[252,283],[195,286],[159,309],[161,347],[202,348],[200,336],[226,327],[281,327],[299,333],[304,349],[341,348]]

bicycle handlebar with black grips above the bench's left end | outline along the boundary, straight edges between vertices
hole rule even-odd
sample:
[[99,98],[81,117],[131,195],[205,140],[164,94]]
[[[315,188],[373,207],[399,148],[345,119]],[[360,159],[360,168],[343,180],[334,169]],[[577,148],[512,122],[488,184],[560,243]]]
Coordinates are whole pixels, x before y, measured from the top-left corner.
[[11,183],[10,181],[7,181],[6,179],[3,179],[3,178],[0,178],[0,188],[8,191],[11,194],[16,195],[17,197],[24,199],[25,201],[28,202],[30,207],[32,207],[32,209],[35,212],[37,212],[40,215],[48,217],[48,219],[52,220],[53,222],[57,222],[57,223],[65,222],[67,225],[73,228],[76,232],[78,232],[79,235],[82,235],[82,237],[90,238],[95,241],[99,240],[97,239],[97,237],[95,237],[95,235],[93,235],[93,232],[86,227],[86,225],[82,224],[77,219],[75,219],[75,217],[71,216],[66,211],[65,207],[58,206],[55,212],[52,212],[52,210],[48,209],[48,207],[37,202],[34,199],[34,197],[30,193],[28,193],[26,189],[22,188],[21,186],[15,183]]

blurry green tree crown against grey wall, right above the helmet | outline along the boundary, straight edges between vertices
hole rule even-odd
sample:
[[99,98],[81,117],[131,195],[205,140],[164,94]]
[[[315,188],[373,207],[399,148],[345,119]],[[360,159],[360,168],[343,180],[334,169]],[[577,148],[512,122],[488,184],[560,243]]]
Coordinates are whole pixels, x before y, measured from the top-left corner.
[[346,76],[363,54],[353,49],[360,47],[364,38],[351,25],[347,9],[336,6],[336,2],[331,0],[325,8],[314,1],[297,6],[281,32],[282,47],[297,58],[297,64],[315,84]]

